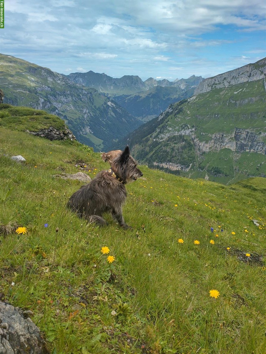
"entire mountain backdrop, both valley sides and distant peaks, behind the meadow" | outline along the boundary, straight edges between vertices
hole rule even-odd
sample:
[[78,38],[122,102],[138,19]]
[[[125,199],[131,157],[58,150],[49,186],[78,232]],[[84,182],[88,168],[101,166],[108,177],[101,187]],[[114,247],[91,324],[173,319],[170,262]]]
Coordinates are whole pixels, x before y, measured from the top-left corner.
[[0,62],[5,103],[58,115],[96,151],[129,144],[150,167],[221,183],[266,176],[266,58],[173,82],[62,75],[7,55]]

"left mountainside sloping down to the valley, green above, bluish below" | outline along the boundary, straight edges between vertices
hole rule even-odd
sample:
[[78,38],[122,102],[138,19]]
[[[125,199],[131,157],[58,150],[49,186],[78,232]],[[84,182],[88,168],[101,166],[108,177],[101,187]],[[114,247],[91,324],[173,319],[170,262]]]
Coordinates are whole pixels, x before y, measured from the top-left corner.
[[80,142],[98,151],[141,124],[115,101],[65,75],[8,55],[0,54],[0,63],[4,103],[60,116]]

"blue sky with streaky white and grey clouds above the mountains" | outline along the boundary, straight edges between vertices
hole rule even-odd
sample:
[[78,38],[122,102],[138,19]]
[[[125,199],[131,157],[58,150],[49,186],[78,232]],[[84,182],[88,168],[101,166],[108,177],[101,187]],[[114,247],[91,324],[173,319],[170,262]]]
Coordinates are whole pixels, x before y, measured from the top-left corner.
[[63,74],[207,78],[266,56],[266,2],[5,0],[0,52]]

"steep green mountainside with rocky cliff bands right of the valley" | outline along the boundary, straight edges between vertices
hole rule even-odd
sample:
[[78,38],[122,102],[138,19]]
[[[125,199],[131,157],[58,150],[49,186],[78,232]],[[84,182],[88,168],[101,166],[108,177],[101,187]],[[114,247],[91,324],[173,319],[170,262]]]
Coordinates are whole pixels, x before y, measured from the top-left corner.
[[[255,71],[242,75],[246,67]],[[198,91],[212,88],[170,105],[123,142],[141,162],[182,176],[221,183],[265,177],[266,92],[258,74],[265,71],[265,59],[246,67],[225,73],[224,80],[218,75],[202,81]],[[218,88],[218,81],[224,86]]]

